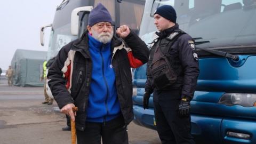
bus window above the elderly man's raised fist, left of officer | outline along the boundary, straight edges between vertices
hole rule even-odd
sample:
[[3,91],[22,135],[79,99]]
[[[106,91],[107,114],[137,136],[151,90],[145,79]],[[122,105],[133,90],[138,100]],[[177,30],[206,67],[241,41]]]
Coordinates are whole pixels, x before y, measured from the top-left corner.
[[127,25],[139,33],[144,4],[122,1],[120,10],[120,26]]

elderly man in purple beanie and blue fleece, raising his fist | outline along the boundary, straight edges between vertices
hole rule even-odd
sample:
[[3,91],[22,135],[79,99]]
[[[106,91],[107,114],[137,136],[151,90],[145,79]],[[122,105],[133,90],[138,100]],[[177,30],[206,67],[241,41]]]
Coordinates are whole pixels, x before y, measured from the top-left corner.
[[103,144],[128,143],[131,67],[146,63],[149,50],[127,26],[116,31],[123,40],[117,38],[111,22],[106,7],[98,4],[82,37],[62,47],[47,75],[61,112],[76,122],[77,143],[100,144],[101,138]]

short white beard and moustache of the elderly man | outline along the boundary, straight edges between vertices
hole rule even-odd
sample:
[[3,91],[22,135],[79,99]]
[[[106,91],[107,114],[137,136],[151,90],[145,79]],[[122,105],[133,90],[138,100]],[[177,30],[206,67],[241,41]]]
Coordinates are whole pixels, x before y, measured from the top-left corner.
[[111,30],[111,33],[100,33],[98,34],[97,31],[92,29],[92,37],[97,39],[99,42],[106,44],[111,41],[113,37],[113,30]]

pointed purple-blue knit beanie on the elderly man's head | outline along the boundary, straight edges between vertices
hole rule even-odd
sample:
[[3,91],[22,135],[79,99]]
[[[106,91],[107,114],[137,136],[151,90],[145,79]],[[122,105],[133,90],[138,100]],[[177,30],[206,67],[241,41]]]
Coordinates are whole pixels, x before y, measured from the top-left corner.
[[111,15],[105,6],[99,3],[89,14],[89,26],[95,25],[98,22],[110,22],[112,23]]

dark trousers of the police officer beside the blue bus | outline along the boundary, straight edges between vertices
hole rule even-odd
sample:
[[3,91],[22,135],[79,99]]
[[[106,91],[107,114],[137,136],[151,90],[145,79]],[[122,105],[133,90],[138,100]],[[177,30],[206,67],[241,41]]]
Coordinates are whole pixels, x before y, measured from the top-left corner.
[[156,127],[163,144],[195,143],[190,134],[190,116],[178,115],[180,97],[180,90],[154,91]]

